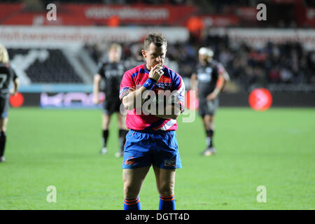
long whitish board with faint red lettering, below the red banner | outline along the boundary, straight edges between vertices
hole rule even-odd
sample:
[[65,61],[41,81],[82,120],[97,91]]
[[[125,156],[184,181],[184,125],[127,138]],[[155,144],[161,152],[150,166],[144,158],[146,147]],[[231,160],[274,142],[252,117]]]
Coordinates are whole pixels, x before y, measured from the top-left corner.
[[5,45],[83,44],[97,41],[142,41],[148,32],[162,32],[169,43],[187,41],[184,27],[29,27],[1,26],[0,42]]

